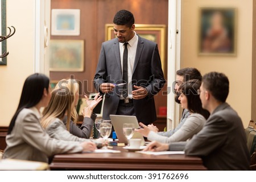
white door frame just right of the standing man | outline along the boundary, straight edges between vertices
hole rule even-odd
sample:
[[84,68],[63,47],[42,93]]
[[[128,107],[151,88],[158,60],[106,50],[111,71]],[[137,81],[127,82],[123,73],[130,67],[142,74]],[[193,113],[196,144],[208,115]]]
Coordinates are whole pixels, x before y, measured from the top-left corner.
[[168,75],[167,75],[167,129],[174,129],[179,124],[180,109],[175,103],[172,89],[176,70],[180,69],[180,35],[181,35],[181,0],[168,2]]

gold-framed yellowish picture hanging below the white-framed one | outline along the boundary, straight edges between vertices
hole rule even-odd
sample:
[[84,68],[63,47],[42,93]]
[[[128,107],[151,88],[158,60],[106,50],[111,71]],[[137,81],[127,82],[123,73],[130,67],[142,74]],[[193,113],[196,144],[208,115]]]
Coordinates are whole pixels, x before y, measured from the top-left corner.
[[84,40],[51,40],[50,71],[84,71]]

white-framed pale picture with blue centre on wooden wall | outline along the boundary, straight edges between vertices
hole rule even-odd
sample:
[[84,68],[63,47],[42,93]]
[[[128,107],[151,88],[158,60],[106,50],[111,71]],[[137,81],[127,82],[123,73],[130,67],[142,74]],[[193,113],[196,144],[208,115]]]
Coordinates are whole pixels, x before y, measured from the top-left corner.
[[79,9],[52,9],[51,35],[80,35]]

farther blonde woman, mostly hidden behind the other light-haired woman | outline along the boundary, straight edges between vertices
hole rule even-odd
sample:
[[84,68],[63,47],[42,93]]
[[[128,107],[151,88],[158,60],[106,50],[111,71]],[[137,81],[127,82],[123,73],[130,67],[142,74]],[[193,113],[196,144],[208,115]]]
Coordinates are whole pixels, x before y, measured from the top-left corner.
[[92,107],[86,107],[82,112],[82,115],[84,116],[82,125],[80,127],[76,125],[78,118],[76,105],[79,101],[79,84],[76,82],[75,79],[62,79],[57,83],[55,88],[68,88],[69,94],[71,94],[71,96],[75,98],[75,104],[71,109],[71,120],[67,120],[67,117],[63,118],[63,122],[65,125],[67,125],[67,121],[70,122],[69,132],[77,137],[89,138],[97,115],[93,113]]

